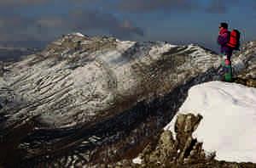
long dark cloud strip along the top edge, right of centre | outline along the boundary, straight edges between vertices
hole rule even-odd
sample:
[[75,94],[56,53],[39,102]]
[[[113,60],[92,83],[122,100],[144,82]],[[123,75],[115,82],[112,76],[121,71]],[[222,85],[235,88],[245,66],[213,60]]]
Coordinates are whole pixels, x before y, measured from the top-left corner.
[[243,5],[241,0],[209,0],[207,6],[199,0],[120,0],[116,4],[120,12],[151,13],[154,11],[205,11],[211,14],[224,14],[230,8]]

